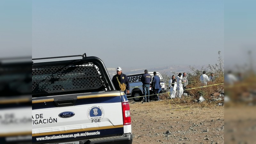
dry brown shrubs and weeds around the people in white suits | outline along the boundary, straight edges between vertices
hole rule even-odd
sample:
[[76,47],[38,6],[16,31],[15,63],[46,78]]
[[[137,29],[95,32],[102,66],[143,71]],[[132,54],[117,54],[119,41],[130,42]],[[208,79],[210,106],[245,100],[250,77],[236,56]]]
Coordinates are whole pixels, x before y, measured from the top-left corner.
[[[201,69],[196,69],[191,66],[189,66],[191,72],[187,73],[188,76],[188,85],[187,85],[187,90],[185,91],[188,93],[188,97],[182,97],[182,99],[176,98],[173,99],[174,102],[176,103],[194,103],[193,100],[198,100],[200,96],[203,96],[205,101],[203,103],[199,103],[201,106],[207,106],[207,105],[214,105],[217,104],[217,102],[212,101],[211,95],[214,94],[215,92],[221,92],[224,90],[224,68],[223,68],[223,60],[220,55],[220,51],[218,52],[219,54],[219,60],[218,64],[216,63],[215,65],[208,65],[207,70],[206,68],[202,67]],[[202,87],[204,86],[200,81],[200,76],[202,75],[203,71],[206,71],[206,75],[210,76],[210,74],[213,72],[215,76],[215,80],[213,82],[208,82],[207,87]],[[170,76],[163,74],[164,79],[166,84],[170,80]],[[175,72],[174,72],[175,75]],[[218,85],[214,85],[218,84]],[[211,86],[209,86],[211,85]],[[166,85],[167,86],[167,85]],[[193,88],[193,89],[190,89]],[[190,90],[188,90],[190,89]],[[169,95],[164,95],[163,98],[168,99]],[[218,103],[222,103],[224,100],[222,99],[221,101],[218,101]],[[208,103],[208,104],[207,104]]]

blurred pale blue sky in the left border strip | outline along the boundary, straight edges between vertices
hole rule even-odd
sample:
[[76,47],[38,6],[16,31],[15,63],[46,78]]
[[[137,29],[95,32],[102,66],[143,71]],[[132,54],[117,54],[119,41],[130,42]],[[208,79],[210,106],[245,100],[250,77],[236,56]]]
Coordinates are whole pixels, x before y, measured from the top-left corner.
[[31,56],[31,1],[0,0],[0,58]]

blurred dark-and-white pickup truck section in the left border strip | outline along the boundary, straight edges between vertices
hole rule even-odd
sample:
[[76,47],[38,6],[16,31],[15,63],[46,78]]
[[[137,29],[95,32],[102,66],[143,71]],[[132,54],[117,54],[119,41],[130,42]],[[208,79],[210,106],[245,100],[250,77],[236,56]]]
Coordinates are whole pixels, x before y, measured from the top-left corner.
[[0,59],[0,144],[31,143],[31,57]]

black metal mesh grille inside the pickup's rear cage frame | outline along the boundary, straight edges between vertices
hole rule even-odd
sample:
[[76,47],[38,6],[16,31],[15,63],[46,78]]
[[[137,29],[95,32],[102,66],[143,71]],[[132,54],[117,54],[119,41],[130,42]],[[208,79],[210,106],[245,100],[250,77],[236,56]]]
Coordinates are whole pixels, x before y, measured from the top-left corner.
[[32,69],[32,94],[104,89],[93,63]]

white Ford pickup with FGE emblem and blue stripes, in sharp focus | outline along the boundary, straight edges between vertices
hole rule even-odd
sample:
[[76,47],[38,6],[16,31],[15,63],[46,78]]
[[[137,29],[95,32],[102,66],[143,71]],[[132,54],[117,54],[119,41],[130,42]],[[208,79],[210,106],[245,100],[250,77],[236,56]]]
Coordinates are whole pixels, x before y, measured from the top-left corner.
[[[82,56],[79,60],[36,60]],[[130,107],[104,63],[83,55],[32,59],[32,142],[131,144]]]

